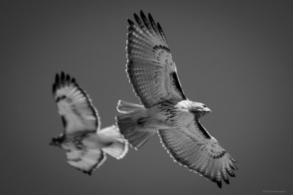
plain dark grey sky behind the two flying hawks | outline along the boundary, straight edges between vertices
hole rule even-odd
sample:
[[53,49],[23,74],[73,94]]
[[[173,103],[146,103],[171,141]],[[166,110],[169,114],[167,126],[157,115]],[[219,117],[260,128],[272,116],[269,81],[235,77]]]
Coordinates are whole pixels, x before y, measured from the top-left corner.
[[[222,189],[173,162],[152,137],[92,176],[49,146],[63,131],[56,73],[75,77],[114,124],[118,100],[139,103],[125,73],[126,18],[161,24],[185,95],[239,170]],[[1,20],[0,194],[292,194],[292,1],[6,1]]]

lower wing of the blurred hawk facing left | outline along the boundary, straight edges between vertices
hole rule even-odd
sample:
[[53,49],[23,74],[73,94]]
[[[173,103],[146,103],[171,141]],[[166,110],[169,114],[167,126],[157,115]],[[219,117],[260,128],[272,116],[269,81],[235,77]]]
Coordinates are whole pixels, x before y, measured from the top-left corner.
[[68,150],[67,163],[89,175],[106,160],[105,152],[100,149]]

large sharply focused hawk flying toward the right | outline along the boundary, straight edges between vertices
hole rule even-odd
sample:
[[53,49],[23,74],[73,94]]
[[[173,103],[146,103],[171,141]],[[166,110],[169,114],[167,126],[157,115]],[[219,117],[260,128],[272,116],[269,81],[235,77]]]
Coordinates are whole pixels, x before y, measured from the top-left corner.
[[119,131],[136,150],[158,132],[174,161],[221,188],[222,178],[235,177],[236,161],[198,121],[211,110],[184,95],[160,24],[140,16],[138,26],[128,19],[126,72],[142,105],[118,102]]

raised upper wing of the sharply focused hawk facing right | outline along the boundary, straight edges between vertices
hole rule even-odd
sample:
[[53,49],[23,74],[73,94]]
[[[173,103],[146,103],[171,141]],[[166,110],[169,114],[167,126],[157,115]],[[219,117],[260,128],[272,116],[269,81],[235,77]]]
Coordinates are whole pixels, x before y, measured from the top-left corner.
[[149,14],[134,13],[137,27],[128,19],[127,69],[129,82],[141,104],[150,108],[164,100],[185,100],[165,34]]

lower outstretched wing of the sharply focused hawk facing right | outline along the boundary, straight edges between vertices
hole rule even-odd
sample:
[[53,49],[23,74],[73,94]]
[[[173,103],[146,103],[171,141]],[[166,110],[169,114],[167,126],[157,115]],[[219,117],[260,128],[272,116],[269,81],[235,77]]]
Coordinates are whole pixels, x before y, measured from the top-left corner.
[[184,165],[222,187],[222,179],[229,184],[227,173],[235,177],[236,162],[196,120],[186,126],[159,130],[161,143],[174,161]]

